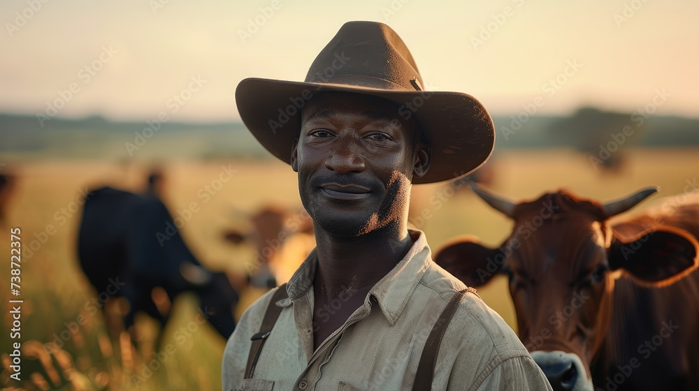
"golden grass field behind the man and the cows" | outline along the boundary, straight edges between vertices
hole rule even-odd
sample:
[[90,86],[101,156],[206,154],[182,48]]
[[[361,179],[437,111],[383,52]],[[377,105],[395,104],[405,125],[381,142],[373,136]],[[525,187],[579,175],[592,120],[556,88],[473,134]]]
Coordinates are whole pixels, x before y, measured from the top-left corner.
[[[690,184],[696,186],[696,149],[637,149],[628,152],[627,158],[628,164],[621,172],[612,175],[594,170],[588,156],[568,150],[505,151],[489,163],[495,172],[490,188],[514,199],[531,199],[544,191],[565,187],[579,195],[608,200],[648,185],[661,186],[661,195],[656,198],[682,193]],[[231,180],[212,189],[209,197],[201,196],[202,189],[215,184],[223,167],[235,170]],[[181,231],[196,256],[214,270],[242,272],[253,254],[252,248],[233,248],[222,242],[222,229],[249,229],[245,213],[262,205],[301,207],[294,172],[277,161],[173,161],[164,168],[168,176],[166,202],[171,212],[176,215],[192,202],[199,207]],[[20,227],[22,248],[27,251],[22,258],[20,295],[24,300],[22,378],[29,379],[24,387],[42,389],[49,386],[43,380],[48,379],[66,390],[219,390],[224,339],[208,325],[197,325],[186,341],[173,338],[196,316],[194,297],[175,302],[173,322],[164,330],[163,344],[173,347],[173,353],[154,352],[145,339],[139,345],[140,351],[128,354],[129,344],[106,337],[101,314],[85,310],[85,304],[97,293],[82,276],[75,257],[80,220],[76,200],[87,187],[101,184],[136,190],[145,167],[43,161],[17,165],[17,170],[20,181],[8,219],[1,227],[5,233],[0,235],[0,297],[3,330],[9,330],[12,318],[8,300],[16,298],[10,295],[8,272],[10,227]],[[426,232],[433,251],[449,238],[462,234],[477,235],[485,244],[499,245],[509,233],[510,222],[469,190],[452,192],[446,186],[449,185],[416,186],[413,196],[415,209],[428,209],[432,216],[422,221],[419,228]],[[435,195],[441,195],[443,202],[430,202]],[[480,293],[507,323],[516,327],[503,279],[497,279]],[[259,293],[247,294],[245,303],[254,295]],[[140,319],[139,327],[146,332],[153,329],[147,319]],[[10,364],[11,342],[8,332],[3,332],[0,352],[4,367]],[[49,355],[48,350],[54,353]],[[154,362],[153,357],[164,358]],[[147,364],[151,364],[152,370],[144,372]],[[8,376],[5,369],[0,385],[16,385],[6,383]]]

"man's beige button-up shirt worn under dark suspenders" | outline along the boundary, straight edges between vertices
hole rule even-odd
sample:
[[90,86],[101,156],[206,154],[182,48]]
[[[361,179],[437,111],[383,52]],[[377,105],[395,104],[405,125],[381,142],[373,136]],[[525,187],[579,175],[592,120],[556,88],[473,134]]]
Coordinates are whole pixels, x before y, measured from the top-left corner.
[[[425,341],[454,293],[466,288],[432,261],[424,233],[369,291],[364,304],[313,351],[315,250],[287,285],[289,298],[262,348],[253,379],[243,380],[250,337],[259,332],[272,292],[240,318],[226,344],[223,388],[229,390],[411,390]],[[343,305],[340,295],[328,316]],[[323,315],[317,320],[322,321]],[[442,339],[433,390],[551,390],[503,318],[468,293]]]

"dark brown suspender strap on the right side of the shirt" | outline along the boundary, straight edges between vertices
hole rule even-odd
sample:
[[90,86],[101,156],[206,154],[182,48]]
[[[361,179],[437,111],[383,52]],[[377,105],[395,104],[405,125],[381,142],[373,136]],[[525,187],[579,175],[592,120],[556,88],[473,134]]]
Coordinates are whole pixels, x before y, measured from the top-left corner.
[[449,322],[454,317],[456,309],[459,308],[459,304],[466,293],[473,292],[475,289],[466,288],[464,290],[459,290],[459,292],[454,293],[452,300],[447,304],[447,308],[442,311],[434,327],[432,327],[432,332],[425,343],[425,347],[422,350],[422,357],[420,357],[420,363],[417,365],[417,374],[415,374],[415,383],[412,385],[413,391],[425,391],[432,389],[432,378],[434,376],[435,366],[437,365],[437,355],[439,354],[439,347],[442,344],[442,338],[445,332],[447,332],[447,326]]

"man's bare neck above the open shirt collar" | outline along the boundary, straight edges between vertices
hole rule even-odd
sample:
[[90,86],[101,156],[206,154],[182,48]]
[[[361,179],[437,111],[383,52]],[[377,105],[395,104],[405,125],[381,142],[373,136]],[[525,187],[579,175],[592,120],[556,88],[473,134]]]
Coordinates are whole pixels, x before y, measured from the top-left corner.
[[331,301],[340,293],[368,291],[398,264],[412,246],[408,230],[384,229],[351,239],[316,231],[318,268],[315,296]]

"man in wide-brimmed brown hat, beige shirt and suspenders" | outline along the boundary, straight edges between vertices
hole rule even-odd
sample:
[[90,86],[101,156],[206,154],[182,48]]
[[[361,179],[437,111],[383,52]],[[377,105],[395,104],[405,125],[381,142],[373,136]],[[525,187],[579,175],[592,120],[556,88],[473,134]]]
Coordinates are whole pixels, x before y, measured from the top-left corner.
[[224,390],[551,389],[408,230],[412,184],[468,174],[495,137],[475,98],[421,86],[403,40],[376,22],[345,24],[305,82],[238,85],[246,126],[298,172],[317,248],[240,318]]

